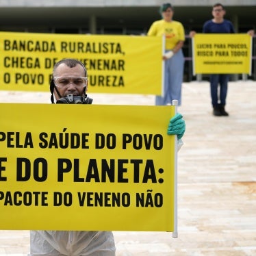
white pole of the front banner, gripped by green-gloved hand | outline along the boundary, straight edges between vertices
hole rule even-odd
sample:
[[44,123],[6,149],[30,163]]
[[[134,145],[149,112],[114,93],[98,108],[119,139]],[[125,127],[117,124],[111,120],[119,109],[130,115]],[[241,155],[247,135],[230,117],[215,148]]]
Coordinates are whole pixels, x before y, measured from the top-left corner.
[[[172,105],[175,106],[175,114],[177,114],[177,105],[178,105],[178,101],[177,100],[173,100],[172,101]],[[178,182],[178,178],[177,178],[177,152],[178,152],[178,138],[177,135],[175,135],[175,177],[174,177],[174,181],[175,181],[175,188],[174,188],[174,230],[172,232],[172,238],[177,238],[178,237],[178,216],[177,216],[177,212],[178,212],[178,201],[177,201],[177,182]]]

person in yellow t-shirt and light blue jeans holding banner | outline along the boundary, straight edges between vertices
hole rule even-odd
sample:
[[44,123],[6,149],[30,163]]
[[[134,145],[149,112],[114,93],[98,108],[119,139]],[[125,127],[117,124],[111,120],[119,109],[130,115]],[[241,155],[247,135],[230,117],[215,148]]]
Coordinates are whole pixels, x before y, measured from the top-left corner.
[[155,21],[147,36],[165,36],[164,65],[164,95],[157,96],[155,105],[171,105],[172,100],[177,99],[181,105],[181,84],[183,82],[184,56],[183,43],[185,32],[179,21],[173,21],[173,7],[170,3],[164,3],[160,12],[162,19]]

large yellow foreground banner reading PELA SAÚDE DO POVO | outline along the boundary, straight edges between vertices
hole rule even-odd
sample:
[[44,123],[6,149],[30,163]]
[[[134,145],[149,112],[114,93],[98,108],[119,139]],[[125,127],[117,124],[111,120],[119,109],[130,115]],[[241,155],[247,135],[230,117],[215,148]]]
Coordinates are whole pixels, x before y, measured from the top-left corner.
[[0,229],[173,230],[174,106],[0,111]]

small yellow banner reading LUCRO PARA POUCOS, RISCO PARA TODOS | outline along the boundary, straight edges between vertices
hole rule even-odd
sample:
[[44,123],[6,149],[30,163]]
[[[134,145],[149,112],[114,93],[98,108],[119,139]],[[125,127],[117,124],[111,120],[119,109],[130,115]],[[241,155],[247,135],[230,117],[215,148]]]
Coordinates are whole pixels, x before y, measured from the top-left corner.
[[192,51],[194,74],[251,74],[248,34],[196,34]]

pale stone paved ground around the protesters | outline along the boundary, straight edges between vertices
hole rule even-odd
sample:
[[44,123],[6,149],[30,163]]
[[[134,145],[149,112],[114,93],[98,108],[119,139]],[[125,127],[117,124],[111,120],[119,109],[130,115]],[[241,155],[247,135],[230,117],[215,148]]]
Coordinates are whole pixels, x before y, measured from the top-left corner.
[[[154,104],[153,96],[88,94],[94,104]],[[48,103],[49,94],[0,92],[0,101]],[[183,84],[179,238],[114,232],[117,256],[256,255],[256,82],[230,82],[226,109],[229,117],[212,116],[207,82]],[[0,256],[28,251],[29,231],[0,231]]]

